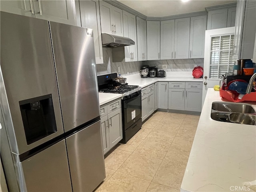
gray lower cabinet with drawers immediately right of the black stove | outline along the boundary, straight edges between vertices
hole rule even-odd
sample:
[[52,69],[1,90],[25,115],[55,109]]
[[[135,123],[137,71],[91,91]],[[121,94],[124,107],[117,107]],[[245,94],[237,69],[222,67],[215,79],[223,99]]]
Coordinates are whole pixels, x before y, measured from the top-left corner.
[[142,122],[155,111],[155,92],[154,84],[142,88]]

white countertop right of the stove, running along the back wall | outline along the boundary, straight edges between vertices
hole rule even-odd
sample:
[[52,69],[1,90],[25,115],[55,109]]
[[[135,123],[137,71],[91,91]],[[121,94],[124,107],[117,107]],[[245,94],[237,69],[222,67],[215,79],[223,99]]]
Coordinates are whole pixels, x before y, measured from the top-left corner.
[[188,82],[202,82],[202,78],[194,78],[192,76],[192,72],[166,72],[166,77],[163,78],[141,78],[140,74],[133,74],[124,76],[127,78],[126,82],[129,85],[138,85],[140,87],[146,87],[152,83],[158,82],[158,81],[188,81]]

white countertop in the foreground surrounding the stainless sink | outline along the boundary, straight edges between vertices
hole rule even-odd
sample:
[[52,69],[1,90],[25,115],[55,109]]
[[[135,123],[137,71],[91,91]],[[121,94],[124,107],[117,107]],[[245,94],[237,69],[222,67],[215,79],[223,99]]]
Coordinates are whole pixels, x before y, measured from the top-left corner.
[[[214,101],[222,100],[219,92],[209,88],[182,181],[182,192],[234,191],[235,186],[242,187],[243,182],[256,180],[256,126],[212,120]],[[250,104],[256,109],[256,102]],[[248,191],[248,188],[239,191]]]

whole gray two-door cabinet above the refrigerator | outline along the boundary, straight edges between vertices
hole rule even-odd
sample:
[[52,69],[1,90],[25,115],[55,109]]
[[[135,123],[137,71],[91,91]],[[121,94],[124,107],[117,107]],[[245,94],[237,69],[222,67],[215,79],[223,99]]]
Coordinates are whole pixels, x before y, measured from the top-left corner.
[[1,11],[64,24],[76,24],[74,0],[1,0]]

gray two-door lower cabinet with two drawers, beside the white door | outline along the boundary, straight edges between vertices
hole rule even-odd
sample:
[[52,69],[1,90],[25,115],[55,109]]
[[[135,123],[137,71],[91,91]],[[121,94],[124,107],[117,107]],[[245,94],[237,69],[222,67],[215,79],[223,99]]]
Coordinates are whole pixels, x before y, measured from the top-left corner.
[[200,112],[202,82],[169,82],[168,109]]

